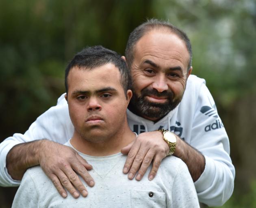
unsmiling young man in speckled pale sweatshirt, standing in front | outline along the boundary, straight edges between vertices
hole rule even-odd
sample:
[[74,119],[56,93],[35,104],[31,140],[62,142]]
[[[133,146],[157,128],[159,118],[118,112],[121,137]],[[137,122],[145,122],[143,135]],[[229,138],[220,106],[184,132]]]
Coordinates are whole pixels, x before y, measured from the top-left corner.
[[74,56],[65,76],[74,125],[66,145],[93,164],[91,176],[97,183],[87,187],[87,198],[63,199],[42,169],[33,167],[25,173],[13,207],[199,207],[193,180],[179,158],[165,158],[150,182],[130,182],[122,173],[126,156],[120,150],[136,139],[126,117],[132,97],[128,73],[121,56],[100,46]]

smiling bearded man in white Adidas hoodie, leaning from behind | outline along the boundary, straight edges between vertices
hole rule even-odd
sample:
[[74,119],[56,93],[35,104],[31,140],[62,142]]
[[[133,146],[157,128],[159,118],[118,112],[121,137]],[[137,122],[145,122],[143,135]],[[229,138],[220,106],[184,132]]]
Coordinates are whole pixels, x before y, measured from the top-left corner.
[[[171,150],[187,164],[199,201],[221,206],[234,188],[228,136],[205,81],[190,75],[191,60],[187,35],[169,23],[149,20],[131,33],[126,61],[132,74],[134,97],[127,115],[131,130],[141,134],[132,147],[128,145],[121,151],[127,154],[130,150],[123,171],[132,179],[139,170],[136,180],[141,180],[153,160],[149,173],[152,180],[162,158]],[[158,129],[174,133],[175,151]],[[50,141],[20,144],[43,138],[65,143],[73,131],[62,95],[57,106],[41,115],[25,135],[15,134],[1,143],[1,184],[18,184],[13,179],[20,180],[28,167],[40,164],[63,197],[66,196],[63,186],[74,197],[79,196],[76,189],[81,194],[85,191],[81,182],[71,177],[75,172],[93,186],[94,181],[85,170],[91,166],[67,147]],[[65,158],[65,163],[59,162],[61,158]]]

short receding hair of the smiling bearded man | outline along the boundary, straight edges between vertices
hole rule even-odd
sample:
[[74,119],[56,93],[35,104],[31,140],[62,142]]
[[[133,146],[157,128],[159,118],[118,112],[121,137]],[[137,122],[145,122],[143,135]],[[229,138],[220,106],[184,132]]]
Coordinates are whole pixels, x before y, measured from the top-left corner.
[[178,37],[180,37],[180,39],[182,39],[185,42],[187,50],[189,52],[189,65],[187,69],[189,70],[192,64],[192,47],[186,33],[169,22],[157,20],[157,19],[147,20],[146,22],[139,25],[130,33],[130,36],[128,38],[127,45],[126,45],[126,50],[125,50],[126,61],[129,69],[134,59],[134,55],[133,55],[134,48],[136,43],[139,41],[139,39],[141,39],[141,37],[143,37],[143,35],[145,35],[146,32],[149,32],[154,29],[165,29],[165,28],[169,29],[171,32],[178,35]]

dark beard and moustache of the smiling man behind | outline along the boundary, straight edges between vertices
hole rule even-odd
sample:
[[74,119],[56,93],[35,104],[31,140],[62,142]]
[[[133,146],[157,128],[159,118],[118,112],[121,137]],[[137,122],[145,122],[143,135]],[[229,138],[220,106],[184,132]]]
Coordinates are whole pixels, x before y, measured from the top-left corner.
[[[133,92],[135,92],[133,90]],[[157,97],[167,97],[165,103],[149,102],[146,96],[154,95]],[[181,96],[175,98],[172,91],[163,91],[159,93],[156,89],[145,88],[141,91],[141,95],[134,93],[131,99],[131,107],[136,114],[142,117],[149,117],[153,119],[161,119],[172,111],[181,102],[183,93]]]

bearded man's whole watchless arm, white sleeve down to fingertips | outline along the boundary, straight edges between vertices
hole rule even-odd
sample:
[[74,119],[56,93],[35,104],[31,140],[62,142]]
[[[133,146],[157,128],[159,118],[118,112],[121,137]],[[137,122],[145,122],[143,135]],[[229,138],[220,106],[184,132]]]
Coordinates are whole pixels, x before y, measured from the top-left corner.
[[[53,143],[50,141],[36,141],[31,142],[36,139],[48,138],[52,141],[57,141],[59,143],[65,143],[73,134],[74,127],[69,118],[67,103],[64,98],[64,94],[59,98],[57,106],[50,108],[48,111],[43,113],[37,120],[30,126],[28,131],[25,134],[14,134],[13,137],[9,137],[0,144],[0,185],[1,186],[17,186],[20,184],[20,180],[24,171],[28,167],[34,165],[40,165],[44,171],[48,170],[46,173],[49,178],[54,182],[59,193],[66,195],[63,186],[71,191],[73,196],[78,196],[74,192],[74,186],[80,191],[83,196],[87,193],[83,193],[85,190],[84,185],[80,182],[77,175],[74,174],[74,170],[77,173],[80,173],[81,176],[85,179],[85,182],[89,186],[93,186],[92,178],[89,176],[89,173],[86,169],[91,168],[85,160],[81,159],[77,154],[74,153],[74,150],[67,149],[67,147]],[[31,142],[31,143],[24,143]],[[23,144],[21,144],[23,143]],[[20,145],[17,145],[20,144]],[[48,146],[47,146],[47,145]],[[16,145],[16,146],[15,146]],[[14,147],[15,146],[15,147]],[[47,149],[43,147],[48,147]],[[11,150],[10,154],[9,151]],[[42,151],[43,150],[43,151]],[[51,150],[51,151],[49,151]],[[67,153],[65,151],[68,151]],[[41,158],[39,158],[38,153],[40,153]],[[52,160],[49,160],[48,156],[51,154]],[[44,154],[43,154],[44,153]],[[69,153],[69,154],[68,154]],[[7,158],[8,154],[8,158]],[[65,163],[60,163],[57,158],[63,156]],[[46,160],[46,158],[48,160]],[[54,158],[56,158],[54,160]],[[46,162],[45,162],[46,160]],[[55,162],[54,162],[55,161]],[[63,160],[61,160],[63,161]],[[21,163],[20,163],[21,162]],[[8,171],[6,167],[8,164]],[[67,163],[67,164],[66,164]],[[68,168],[65,168],[68,167]],[[64,170],[65,176],[63,175]],[[16,172],[17,171],[17,172]],[[15,179],[11,178],[13,176]],[[52,174],[55,173],[55,174]],[[56,178],[57,176],[57,178]],[[68,180],[67,180],[68,178]],[[58,180],[61,180],[62,185]],[[72,184],[69,181],[72,181]],[[56,182],[57,181],[57,182]]]

